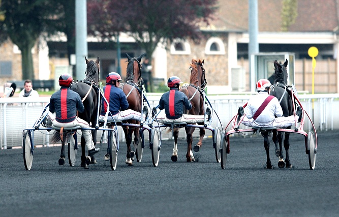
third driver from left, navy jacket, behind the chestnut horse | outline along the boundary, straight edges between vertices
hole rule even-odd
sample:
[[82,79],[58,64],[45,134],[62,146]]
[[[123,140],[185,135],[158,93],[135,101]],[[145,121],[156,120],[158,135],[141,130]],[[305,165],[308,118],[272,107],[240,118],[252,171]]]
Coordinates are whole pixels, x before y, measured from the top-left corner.
[[[204,122],[205,115],[191,115],[183,114],[183,107],[187,110],[192,109],[187,96],[179,91],[181,80],[176,76],[172,76],[167,81],[167,86],[170,88],[169,91],[165,92],[159,101],[159,109],[165,109],[166,116],[158,117],[159,122],[186,122],[186,123],[197,123]],[[209,121],[211,111],[209,108],[206,109],[206,120]]]

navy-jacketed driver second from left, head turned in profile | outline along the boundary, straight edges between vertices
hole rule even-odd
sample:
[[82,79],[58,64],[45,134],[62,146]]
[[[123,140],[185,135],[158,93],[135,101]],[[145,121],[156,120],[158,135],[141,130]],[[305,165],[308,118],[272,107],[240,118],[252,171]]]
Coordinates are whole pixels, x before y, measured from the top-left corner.
[[[141,121],[141,113],[128,109],[128,102],[126,95],[122,89],[119,88],[121,77],[116,72],[111,72],[106,76],[106,86],[104,86],[104,97],[108,101],[109,111],[113,115],[109,115],[107,120],[129,120],[135,119]],[[102,110],[99,119],[104,119],[107,111],[107,104],[102,99]],[[147,107],[144,107],[144,115],[147,115]]]

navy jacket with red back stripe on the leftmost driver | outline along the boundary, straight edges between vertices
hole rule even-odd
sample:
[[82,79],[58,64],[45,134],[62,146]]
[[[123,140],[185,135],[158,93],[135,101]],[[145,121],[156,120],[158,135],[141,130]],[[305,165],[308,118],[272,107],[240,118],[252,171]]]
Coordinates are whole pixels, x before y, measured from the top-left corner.
[[59,123],[72,122],[76,117],[77,110],[85,111],[79,94],[69,87],[61,86],[51,96],[49,103],[49,111],[55,112],[55,120]]

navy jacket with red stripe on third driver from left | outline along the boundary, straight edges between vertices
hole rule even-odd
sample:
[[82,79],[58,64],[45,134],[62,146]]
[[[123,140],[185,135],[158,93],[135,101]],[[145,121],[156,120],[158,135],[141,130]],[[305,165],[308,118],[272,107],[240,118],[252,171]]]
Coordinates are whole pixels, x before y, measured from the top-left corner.
[[187,110],[192,109],[192,104],[187,96],[177,88],[171,88],[165,92],[159,101],[159,109],[165,109],[165,114],[168,119],[180,118],[183,114],[183,106]]

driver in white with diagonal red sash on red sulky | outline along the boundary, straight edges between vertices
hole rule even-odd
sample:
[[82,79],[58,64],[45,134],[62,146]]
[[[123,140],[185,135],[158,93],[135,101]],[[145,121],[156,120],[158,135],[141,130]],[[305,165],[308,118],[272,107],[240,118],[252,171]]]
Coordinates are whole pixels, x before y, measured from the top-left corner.
[[[294,115],[282,116],[283,109],[278,99],[269,95],[271,86],[267,79],[260,79],[256,86],[258,94],[249,100],[245,112],[239,107],[238,118],[246,114],[242,120],[243,125],[258,128],[284,128],[294,125]],[[296,116],[300,122],[302,118],[300,106],[297,108]]]

